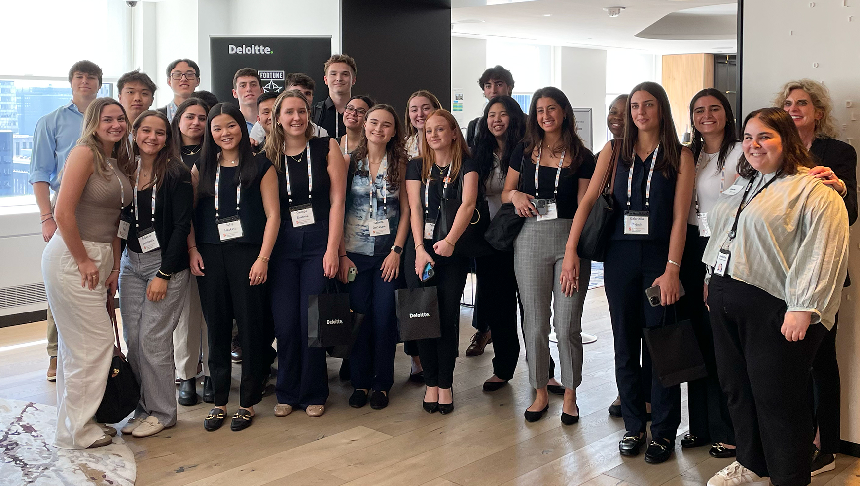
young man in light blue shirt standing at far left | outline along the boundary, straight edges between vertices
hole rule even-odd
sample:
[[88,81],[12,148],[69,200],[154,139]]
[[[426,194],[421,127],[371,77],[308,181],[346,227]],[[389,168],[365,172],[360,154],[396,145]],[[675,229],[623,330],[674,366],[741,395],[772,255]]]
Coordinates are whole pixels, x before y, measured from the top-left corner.
[[[65,157],[81,138],[83,113],[95,100],[101,89],[101,68],[87,60],[77,61],[69,70],[71,101],[41,117],[33,131],[33,153],[30,157],[30,184],[39,206],[42,237],[49,241],[55,231],[51,190],[59,190],[59,174]],[[47,310],[48,366],[47,378],[57,379],[57,325],[53,321],[51,308]]]

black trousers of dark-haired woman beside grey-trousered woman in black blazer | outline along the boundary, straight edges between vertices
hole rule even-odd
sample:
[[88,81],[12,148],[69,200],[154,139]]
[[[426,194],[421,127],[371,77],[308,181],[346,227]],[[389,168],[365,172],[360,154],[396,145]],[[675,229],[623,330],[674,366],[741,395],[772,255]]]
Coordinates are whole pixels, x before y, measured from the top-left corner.
[[275,356],[268,283],[250,286],[248,280],[260,255],[260,245],[198,243],[197,246],[206,266],[205,275],[197,277],[197,283],[206,318],[215,405],[226,405],[230,398],[230,342],[236,319],[242,344],[239,405],[252,407],[262,398],[263,381]]

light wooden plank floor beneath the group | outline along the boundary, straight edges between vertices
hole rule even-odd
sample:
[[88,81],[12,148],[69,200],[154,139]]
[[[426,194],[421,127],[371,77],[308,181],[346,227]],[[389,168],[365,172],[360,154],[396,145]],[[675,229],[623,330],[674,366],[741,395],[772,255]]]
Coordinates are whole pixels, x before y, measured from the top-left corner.
[[[341,360],[329,359],[331,397],[325,415],[298,410],[279,418],[274,397],[264,398],[254,425],[243,432],[224,427],[209,433],[202,422],[208,403],[179,407],[175,427],[146,439],[126,436],[138,462],[138,485],[236,486],[693,486],[704,485],[731,459],[710,458],[708,447],[676,449],[667,463],[646,464],[618,455],[624,423],[606,413],[615,399],[609,311],[602,288],[589,292],[583,328],[599,336],[585,346],[578,390],[581,421],[562,427],[562,398],[550,396],[550,413],[527,423],[532,400],[523,356],[510,386],[481,389],[493,373],[493,346],[482,356],[463,353],[471,335],[471,310],[461,312],[461,356],[454,379],[456,409],[450,415],[421,409],[423,386],[408,383],[408,357],[398,349],[390,405],[352,409],[348,383],[337,378]],[[44,323],[0,329],[0,397],[55,404],[46,381]],[[556,354],[555,349],[553,353]],[[557,354],[556,354],[557,358]],[[238,403],[234,366],[230,412]],[[684,393],[685,396],[685,393]],[[688,430],[686,403],[679,439]],[[857,486],[860,462],[839,456],[837,468],[813,478],[814,486]]]

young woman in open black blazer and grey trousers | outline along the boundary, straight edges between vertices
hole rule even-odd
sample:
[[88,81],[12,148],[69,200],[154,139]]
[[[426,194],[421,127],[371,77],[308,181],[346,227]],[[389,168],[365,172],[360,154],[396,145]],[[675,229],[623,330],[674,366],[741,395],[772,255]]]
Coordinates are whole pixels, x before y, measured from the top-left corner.
[[[187,237],[194,213],[191,172],[171,140],[167,116],[145,111],[132,126],[134,173],[126,251],[120,262],[120,303],[128,362],[140,402],[123,434],[149,437],[176,423],[173,332],[186,300]],[[192,377],[194,378],[194,377]],[[196,398],[196,395],[195,395]]]

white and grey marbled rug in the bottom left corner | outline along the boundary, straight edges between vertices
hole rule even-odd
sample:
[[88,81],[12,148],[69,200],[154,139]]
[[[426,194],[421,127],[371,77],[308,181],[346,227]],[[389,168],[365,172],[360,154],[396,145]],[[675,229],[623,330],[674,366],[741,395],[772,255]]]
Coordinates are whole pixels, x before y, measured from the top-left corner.
[[132,486],[132,450],[120,436],[109,446],[58,449],[51,445],[57,409],[0,398],[0,485]]

